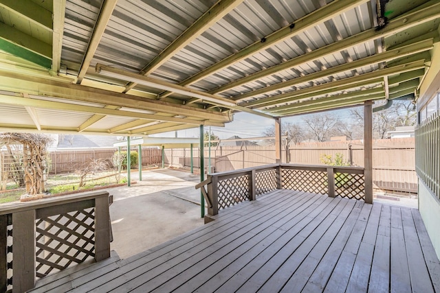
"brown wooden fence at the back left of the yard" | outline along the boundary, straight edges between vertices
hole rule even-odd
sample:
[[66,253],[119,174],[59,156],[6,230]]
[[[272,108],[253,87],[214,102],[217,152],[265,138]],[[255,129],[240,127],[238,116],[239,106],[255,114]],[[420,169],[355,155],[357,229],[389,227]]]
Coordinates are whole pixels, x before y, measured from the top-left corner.
[[[123,149],[122,150],[126,150]],[[137,148],[131,148],[137,152]],[[92,160],[104,159],[112,161],[117,148],[90,149],[90,150],[56,150],[50,152],[50,172],[54,174],[73,172],[81,169]],[[142,165],[162,163],[162,153],[157,148],[142,148]]]

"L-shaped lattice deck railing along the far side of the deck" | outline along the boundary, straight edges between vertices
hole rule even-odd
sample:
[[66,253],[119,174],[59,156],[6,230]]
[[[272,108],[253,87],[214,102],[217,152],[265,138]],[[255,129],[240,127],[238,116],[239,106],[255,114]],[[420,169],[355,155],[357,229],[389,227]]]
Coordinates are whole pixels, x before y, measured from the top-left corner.
[[208,215],[217,215],[219,209],[255,200],[256,196],[275,189],[364,200],[364,186],[363,167],[274,164],[208,174],[196,188],[201,188]]

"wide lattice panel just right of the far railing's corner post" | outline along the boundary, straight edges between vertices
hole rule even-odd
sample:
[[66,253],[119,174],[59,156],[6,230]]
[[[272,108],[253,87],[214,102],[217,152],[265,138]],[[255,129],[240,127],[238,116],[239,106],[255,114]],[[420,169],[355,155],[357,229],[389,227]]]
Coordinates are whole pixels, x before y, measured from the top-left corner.
[[283,189],[293,189],[312,192],[314,194],[327,194],[327,172],[283,169]]

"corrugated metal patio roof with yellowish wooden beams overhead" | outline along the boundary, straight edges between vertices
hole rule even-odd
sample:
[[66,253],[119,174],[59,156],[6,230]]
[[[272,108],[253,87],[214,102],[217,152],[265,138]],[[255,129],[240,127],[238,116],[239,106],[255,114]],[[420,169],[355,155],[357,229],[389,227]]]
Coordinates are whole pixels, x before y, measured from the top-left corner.
[[[45,10],[58,4],[32,1]],[[408,80],[412,80],[411,89],[417,88],[423,75],[420,71],[430,61],[428,50],[432,45],[416,42],[439,40],[439,6],[437,1],[388,1],[384,9],[388,24],[377,27],[378,16],[382,15],[377,13],[376,1],[367,0],[66,0],[60,73],[63,78],[72,78],[72,84],[61,82],[61,77],[50,71],[30,67],[29,62],[3,57],[0,75],[8,82],[0,82],[0,91],[17,96],[30,94],[32,99],[45,102],[50,109],[35,107],[39,109],[39,124],[53,126],[54,131],[65,127],[69,131],[81,128],[109,133],[109,129],[122,129],[124,125],[127,127],[120,132],[124,134],[135,130],[156,132],[162,126],[164,131],[175,130],[184,127],[183,120],[173,119],[179,114],[192,120],[188,127],[198,123],[221,125],[230,121],[231,109],[289,115],[298,113],[301,103],[316,101],[322,106],[329,97],[350,106],[363,102],[351,96],[383,88],[384,76],[396,77],[392,88],[395,95],[400,88],[405,90],[402,94],[408,92],[408,83],[404,84]],[[419,19],[405,16],[397,23],[396,19],[411,10],[420,15]],[[18,17],[19,13],[2,8],[0,22],[12,27],[13,19],[5,16]],[[36,36],[38,23],[17,24],[15,30]],[[38,37],[45,43],[56,40],[50,28]],[[12,38],[10,41],[14,43]],[[397,52],[393,58],[357,62],[401,45],[415,49],[402,57]],[[56,53],[56,47],[53,51]],[[409,77],[399,81],[399,74],[408,71],[399,66],[417,60],[421,62],[408,65]],[[109,67],[101,66],[96,72],[97,63]],[[339,69],[341,65],[351,66]],[[103,68],[117,72],[106,76]],[[12,69],[13,77],[8,69]],[[385,69],[387,73],[382,74]],[[80,71],[82,76],[78,76]],[[142,74],[133,75],[139,78],[127,76],[144,71],[152,78],[148,82]],[[367,75],[369,82],[362,80]],[[347,78],[350,86],[343,82]],[[167,92],[170,84],[182,87],[177,93]],[[375,99],[383,99],[387,91],[375,95]],[[69,103],[75,111],[61,109],[58,102]],[[104,107],[106,110],[98,109]],[[22,119],[10,117],[5,121],[17,121],[27,128],[35,123],[24,107],[12,108]],[[146,126],[151,119],[129,117],[124,112],[129,108],[147,110],[144,114],[157,115],[159,122]]]

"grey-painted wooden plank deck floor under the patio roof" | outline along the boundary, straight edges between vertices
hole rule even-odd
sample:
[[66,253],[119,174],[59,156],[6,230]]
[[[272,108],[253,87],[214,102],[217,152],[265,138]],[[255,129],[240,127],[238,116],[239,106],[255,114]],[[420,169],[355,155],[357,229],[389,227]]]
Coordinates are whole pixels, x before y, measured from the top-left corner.
[[54,274],[32,292],[440,292],[416,209],[277,190],[216,217],[129,259]]

